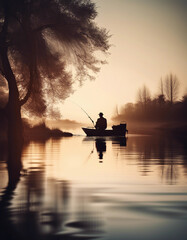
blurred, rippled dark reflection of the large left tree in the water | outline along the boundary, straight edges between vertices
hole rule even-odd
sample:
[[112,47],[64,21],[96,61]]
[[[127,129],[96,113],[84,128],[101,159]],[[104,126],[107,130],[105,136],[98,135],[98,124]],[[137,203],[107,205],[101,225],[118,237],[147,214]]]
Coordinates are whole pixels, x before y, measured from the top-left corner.
[[[52,161],[55,157],[51,155]],[[11,166],[11,162],[8,165],[9,184],[0,201],[0,239],[52,240],[60,237],[69,240],[82,239],[75,237],[80,232],[86,236],[96,234],[98,227],[93,223],[93,216],[89,215],[90,209],[84,208],[81,212],[79,207],[83,204],[82,199],[72,195],[70,182],[46,178],[45,144],[30,143],[24,149],[23,159],[28,167],[27,175],[20,182],[17,196],[14,192],[20,170],[15,174],[15,171],[12,171],[14,165]],[[18,162],[18,159],[16,161]],[[72,201],[76,207],[71,205]],[[59,235],[56,235],[57,233]]]

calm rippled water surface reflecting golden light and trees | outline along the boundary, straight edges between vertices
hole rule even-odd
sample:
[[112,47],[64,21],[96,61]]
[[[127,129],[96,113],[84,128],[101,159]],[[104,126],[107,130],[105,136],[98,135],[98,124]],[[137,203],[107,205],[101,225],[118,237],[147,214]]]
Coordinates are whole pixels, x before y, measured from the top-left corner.
[[74,136],[31,142],[8,186],[0,149],[0,239],[173,240],[187,234],[187,145]]

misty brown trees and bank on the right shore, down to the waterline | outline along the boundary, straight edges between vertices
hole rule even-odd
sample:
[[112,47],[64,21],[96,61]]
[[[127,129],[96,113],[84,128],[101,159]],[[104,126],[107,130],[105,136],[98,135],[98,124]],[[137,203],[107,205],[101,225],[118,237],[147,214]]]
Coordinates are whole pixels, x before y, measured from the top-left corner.
[[129,133],[161,133],[187,138],[187,93],[178,97],[179,80],[167,75],[159,83],[159,93],[151,96],[144,85],[137,91],[137,101],[116,111],[114,122],[127,122]]

